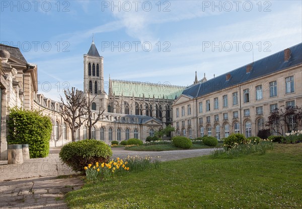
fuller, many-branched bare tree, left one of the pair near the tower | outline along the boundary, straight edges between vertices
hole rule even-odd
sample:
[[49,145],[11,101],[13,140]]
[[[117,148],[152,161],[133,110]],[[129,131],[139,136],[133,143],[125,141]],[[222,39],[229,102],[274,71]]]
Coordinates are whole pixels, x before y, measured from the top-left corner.
[[61,117],[67,122],[71,130],[71,140],[75,141],[75,131],[80,128],[83,123],[87,120],[83,119],[83,116],[87,114],[86,98],[74,87],[64,90],[65,99],[61,96],[62,111],[60,112]]

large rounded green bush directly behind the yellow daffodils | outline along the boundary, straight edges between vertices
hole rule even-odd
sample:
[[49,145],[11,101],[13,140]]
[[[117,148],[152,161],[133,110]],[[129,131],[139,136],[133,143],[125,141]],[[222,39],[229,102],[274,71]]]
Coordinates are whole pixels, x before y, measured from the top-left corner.
[[88,164],[107,163],[112,156],[111,148],[97,140],[82,140],[64,145],[59,157],[73,171],[84,172]]

